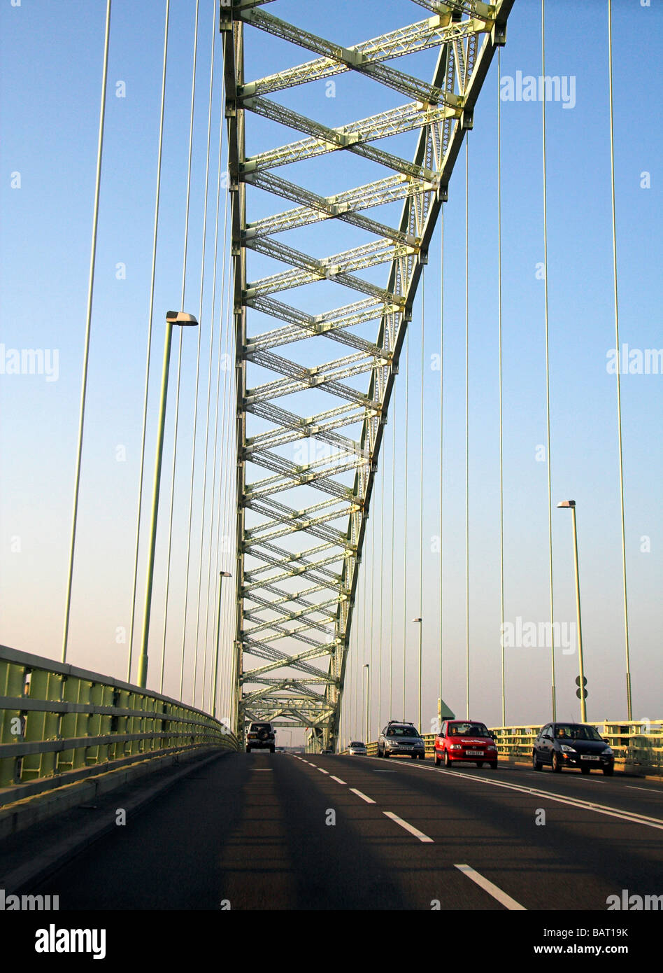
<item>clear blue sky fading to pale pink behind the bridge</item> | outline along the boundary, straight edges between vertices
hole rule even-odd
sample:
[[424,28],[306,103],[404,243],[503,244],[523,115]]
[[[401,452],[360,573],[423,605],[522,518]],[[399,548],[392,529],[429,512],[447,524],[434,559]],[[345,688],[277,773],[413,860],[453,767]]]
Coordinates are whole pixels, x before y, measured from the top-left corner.
[[[616,440],[615,377],[606,368],[614,346],[611,272],[611,183],[608,114],[607,2],[546,2],[546,72],[575,79],[576,103],[546,105],[548,285],[550,329],[551,461],[553,503],[577,502],[588,718],[623,718],[626,712],[621,607],[621,555]],[[661,119],[659,65],[663,57],[663,8],[659,0],[614,0],[614,123],[618,287],[621,341],[631,348],[663,347],[661,311]],[[157,416],[162,321],[180,306],[191,102],[192,0],[173,0],[169,40],[163,183],[157,250],[154,368],[150,397],[147,478],[151,483]],[[310,4],[276,0],[275,16],[350,45],[399,24],[425,17],[407,0]],[[123,677],[126,645],[116,631],[128,626],[132,581],[136,490],[148,320],[152,232],[157,166],[158,105],[164,4],[137,6],[114,0],[106,113],[99,237],[95,277],[83,478],[72,605],[69,659]],[[5,348],[57,349],[57,380],[45,376],[0,376],[0,641],[57,658],[60,651],[78,408],[86,319],[94,166],[101,83],[105,3],[101,0],[24,0],[0,11],[2,318]],[[210,54],[216,14],[201,0],[193,133],[190,242],[185,306],[198,313],[204,204],[204,172]],[[204,450],[204,410],[211,329],[211,272],[216,203],[216,160],[221,115],[220,50],[217,37],[213,85],[212,152],[208,203],[206,282],[201,316],[198,458]],[[541,4],[516,0],[509,18],[502,74],[541,73]],[[307,59],[304,51],[247,31],[247,79]],[[402,70],[429,77],[435,54],[402,58]],[[125,97],[117,97],[118,83]],[[342,125],[365,118],[401,97],[362,79],[341,75],[335,97],[323,83],[271,95],[302,114]],[[481,93],[470,134],[470,565],[471,710],[475,718],[500,721],[499,440],[497,331],[497,106],[495,61]],[[285,144],[288,129],[249,118],[250,154]],[[380,143],[403,156],[413,137]],[[505,425],[505,617],[548,618],[547,468],[537,459],[545,443],[541,103],[502,102],[503,328]],[[20,173],[20,188],[13,188]],[[642,188],[649,174],[649,188]],[[278,170],[325,195],[383,174],[364,160],[338,154]],[[222,221],[223,204],[222,193]],[[288,208],[283,202],[278,208]],[[249,219],[276,211],[271,198],[249,194]],[[396,222],[398,207],[370,215]],[[438,228],[439,229],[439,228]],[[221,239],[220,234],[220,239]],[[316,227],[284,239],[319,256],[366,237],[347,227]],[[444,423],[443,423],[443,696],[465,712],[465,149],[459,157],[444,207]],[[220,244],[219,263],[222,261]],[[117,279],[118,264],[125,279]],[[440,347],[440,237],[436,234],[426,272],[424,483],[424,723],[436,712],[439,652],[439,372],[431,356]],[[249,261],[249,276],[281,270],[266,258]],[[385,268],[370,279],[381,282]],[[540,275],[539,275],[540,276]],[[217,310],[221,295],[221,270]],[[279,296],[320,310],[355,300],[337,285],[318,285]],[[315,299],[315,300],[314,300]],[[319,300],[318,300],[319,299]],[[217,315],[218,317],[218,315]],[[407,551],[403,552],[404,366],[397,383],[397,411],[385,440],[387,494],[384,557],[391,554],[392,424],[396,422],[397,507],[395,539],[395,699],[401,698],[403,614],[407,631],[407,715],[416,718],[416,630],[419,615],[419,410],[421,307],[410,334]],[[250,328],[268,323],[259,315]],[[368,329],[365,332],[368,333]],[[186,568],[187,511],[191,474],[196,337],[186,334],[178,444],[168,658],[164,689],[177,695]],[[218,348],[215,324],[213,359]],[[222,339],[222,341],[225,340]],[[331,345],[330,359],[337,346]],[[304,358],[301,359],[304,361]],[[176,364],[176,358],[174,359]],[[174,369],[173,369],[174,373]],[[173,378],[171,373],[171,378]],[[265,380],[254,369],[250,384]],[[216,394],[214,372],[213,396]],[[164,497],[172,461],[174,384],[164,457]],[[663,680],[663,409],[662,375],[622,377],[626,548],[634,716],[661,717]],[[324,407],[322,407],[324,408]],[[214,409],[214,400],[213,400]],[[315,411],[312,406],[311,411]],[[226,415],[228,435],[232,425]],[[227,439],[225,440],[227,443]],[[118,461],[118,447],[125,461]],[[226,449],[224,454],[226,454]],[[121,450],[122,452],[122,450]],[[210,454],[211,461],[211,454]],[[252,471],[255,473],[255,469]],[[251,476],[250,476],[251,479]],[[209,481],[211,484],[211,480]],[[202,504],[202,467],[196,460],[192,578],[197,578]],[[380,490],[370,521],[381,522]],[[209,516],[210,491],[207,510]],[[285,501],[287,502],[287,500]],[[157,660],[163,618],[165,505],[157,546],[155,635]],[[227,529],[230,511],[226,512]],[[208,543],[207,534],[205,544]],[[643,538],[649,539],[648,552]],[[18,539],[18,542],[17,542]],[[19,551],[17,550],[19,547]],[[378,531],[376,558],[381,550]],[[208,548],[203,550],[207,563]],[[553,510],[555,615],[575,620],[571,523]],[[216,554],[215,554],[216,558]],[[233,555],[221,567],[232,569]],[[403,577],[403,559],[406,559]],[[390,568],[372,575],[373,611],[382,591],[383,668],[388,665]],[[141,559],[139,579],[144,576]],[[404,581],[404,583],[403,583]],[[406,603],[402,604],[403,588]],[[360,583],[360,591],[362,591]],[[139,604],[142,604],[139,588]],[[204,595],[203,595],[204,604]],[[194,617],[195,592],[190,593]],[[201,617],[203,617],[201,609]],[[377,618],[377,616],[375,616]],[[361,598],[358,634],[366,631]],[[203,622],[204,626],[204,622]],[[194,629],[194,626],[193,626]],[[374,631],[374,629],[373,629]],[[193,652],[191,618],[187,651]],[[353,638],[349,684],[373,658],[378,641]],[[576,655],[558,654],[560,714],[578,715]],[[155,662],[155,665],[157,663]],[[549,716],[549,652],[506,652],[507,720],[541,722]],[[384,672],[383,672],[384,675]],[[152,680],[151,680],[152,681]],[[188,671],[186,688],[191,689]],[[199,693],[199,689],[197,690]],[[383,678],[380,719],[390,715]],[[373,685],[373,701],[378,697]],[[349,694],[348,704],[352,695]],[[357,696],[355,694],[355,700]],[[393,715],[401,715],[400,712]],[[377,714],[375,714],[377,725]]]

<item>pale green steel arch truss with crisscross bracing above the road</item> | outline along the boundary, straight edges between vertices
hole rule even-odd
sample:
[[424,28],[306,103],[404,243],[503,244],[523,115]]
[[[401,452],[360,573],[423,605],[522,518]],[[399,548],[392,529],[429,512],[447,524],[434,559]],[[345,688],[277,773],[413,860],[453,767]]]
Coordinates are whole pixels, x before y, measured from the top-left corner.
[[[221,6],[237,377],[233,721],[239,732],[245,720],[257,718],[307,728],[317,745],[333,746],[401,345],[437,213],[495,48],[505,43],[513,0],[414,0],[425,19],[351,48],[267,13],[267,2],[222,0]],[[266,35],[278,38],[281,50],[290,42],[295,58],[299,48],[313,57],[246,80],[245,45],[264,45]],[[431,49],[438,54],[430,80],[393,63]],[[271,97],[342,73],[361,77],[365,86],[365,79],[385,86],[399,103],[330,126]],[[326,100],[311,97],[309,103]],[[293,140],[247,156],[245,127],[258,125],[256,117],[269,123],[262,132],[278,138],[286,126]],[[401,158],[393,136],[412,131],[418,132],[414,155]],[[379,145],[384,138],[389,151]],[[342,154],[344,166],[357,156],[380,166],[379,178],[329,196],[294,181],[297,163],[306,163],[310,182],[311,161],[326,161],[331,153]],[[247,196],[256,198],[256,191],[262,191],[262,215],[250,222]],[[264,194],[272,203],[269,215],[263,214]],[[395,219],[382,222],[386,210],[377,220],[368,215],[388,203],[399,207]],[[329,220],[362,241],[320,255],[291,245],[292,234],[283,240],[286,231]],[[248,258],[280,266],[252,280]],[[379,265],[383,285],[362,275]],[[340,287],[355,292],[356,300],[319,313],[288,303],[288,291],[306,286],[315,296],[321,281],[340,285],[339,294],[345,295]],[[329,302],[329,287],[321,290]],[[271,319],[266,329],[265,316]],[[312,389],[320,402],[313,413]]]

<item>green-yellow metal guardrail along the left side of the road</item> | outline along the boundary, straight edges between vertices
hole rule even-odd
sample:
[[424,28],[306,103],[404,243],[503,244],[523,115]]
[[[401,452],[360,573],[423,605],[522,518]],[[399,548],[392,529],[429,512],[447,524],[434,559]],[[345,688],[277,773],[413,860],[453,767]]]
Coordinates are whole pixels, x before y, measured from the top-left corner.
[[238,749],[226,725],[200,709],[0,646],[0,788],[210,745]]

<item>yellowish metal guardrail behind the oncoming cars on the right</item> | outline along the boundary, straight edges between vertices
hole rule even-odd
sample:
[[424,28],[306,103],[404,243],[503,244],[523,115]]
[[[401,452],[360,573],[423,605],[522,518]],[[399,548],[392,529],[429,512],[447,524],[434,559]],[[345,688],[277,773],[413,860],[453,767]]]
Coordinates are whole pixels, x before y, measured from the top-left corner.
[[[608,740],[615,765],[634,774],[663,775],[663,720],[606,720],[589,723]],[[530,761],[534,741],[544,723],[522,727],[493,727],[498,755],[512,761]],[[432,757],[435,734],[422,734],[426,756]],[[342,752],[347,752],[346,750]],[[377,740],[366,743],[369,757],[377,756]]]

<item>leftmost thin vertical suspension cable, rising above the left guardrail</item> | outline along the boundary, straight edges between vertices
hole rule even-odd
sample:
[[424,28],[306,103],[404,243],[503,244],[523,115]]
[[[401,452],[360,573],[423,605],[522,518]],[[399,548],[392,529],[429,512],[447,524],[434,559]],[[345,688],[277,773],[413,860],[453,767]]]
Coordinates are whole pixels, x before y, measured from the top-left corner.
[[106,30],[104,35],[104,60],[101,74],[101,107],[99,109],[99,135],[96,151],[96,176],[94,182],[94,205],[92,216],[92,242],[89,255],[89,276],[87,278],[87,313],[86,340],[83,353],[83,379],[81,384],[81,409],[79,414],[79,435],[76,450],[76,477],[74,480],[74,510],[71,524],[71,540],[69,544],[69,567],[67,570],[67,595],[64,609],[64,631],[62,634],[62,662],[67,660],[67,642],[69,640],[69,617],[71,613],[71,591],[74,579],[74,553],[76,550],[76,524],[78,521],[79,492],[81,487],[81,462],[83,459],[83,431],[86,419],[87,398],[87,364],[89,361],[89,339],[92,323],[92,294],[94,291],[94,266],[96,263],[96,235],[99,225],[99,195],[101,189],[101,157],[104,142],[104,121],[106,117],[106,87],[108,81],[108,50],[111,36],[111,0],[106,4]]

